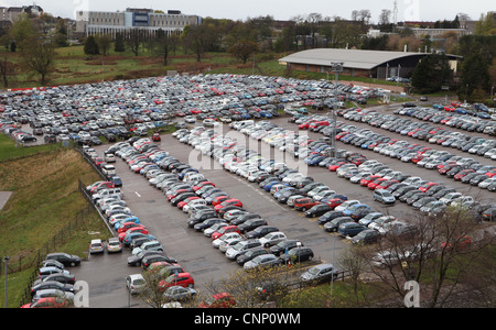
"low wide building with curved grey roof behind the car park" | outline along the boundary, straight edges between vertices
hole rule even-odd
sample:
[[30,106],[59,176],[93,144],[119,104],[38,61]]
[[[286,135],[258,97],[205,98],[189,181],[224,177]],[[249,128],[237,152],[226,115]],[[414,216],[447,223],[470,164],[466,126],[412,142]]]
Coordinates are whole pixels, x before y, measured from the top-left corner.
[[[282,57],[279,63],[290,70],[322,74],[333,73],[333,64],[341,63],[342,75],[388,79],[411,77],[417,64],[427,55],[430,53],[316,48]],[[452,69],[456,72],[460,56],[448,57]]]

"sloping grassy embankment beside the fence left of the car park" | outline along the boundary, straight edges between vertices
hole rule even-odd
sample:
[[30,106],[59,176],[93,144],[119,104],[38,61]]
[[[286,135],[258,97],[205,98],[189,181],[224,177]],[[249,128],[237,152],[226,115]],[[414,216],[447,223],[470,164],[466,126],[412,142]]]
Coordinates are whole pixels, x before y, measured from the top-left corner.
[[[10,257],[8,307],[19,307],[40,251],[47,253],[50,246],[52,252],[86,257],[89,241],[106,239],[109,233],[78,191],[78,179],[89,184],[99,177],[75,150],[51,145],[20,152],[9,138],[0,135],[0,190],[13,193],[0,211],[0,255]],[[78,213],[79,227],[61,235]],[[18,270],[22,271],[10,273]],[[3,305],[1,299],[0,307]]]

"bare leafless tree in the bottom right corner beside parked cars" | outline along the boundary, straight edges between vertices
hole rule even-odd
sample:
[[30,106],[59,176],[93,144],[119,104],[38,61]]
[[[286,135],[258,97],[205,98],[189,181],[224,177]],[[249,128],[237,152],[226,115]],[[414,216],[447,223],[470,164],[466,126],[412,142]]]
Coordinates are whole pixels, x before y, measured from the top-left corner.
[[405,283],[416,280],[425,307],[443,307],[464,287],[476,261],[494,241],[474,240],[478,222],[464,207],[407,222],[409,227],[391,224],[377,245],[360,250],[360,257],[368,262],[373,277],[389,288],[385,296],[391,302],[401,305]]

